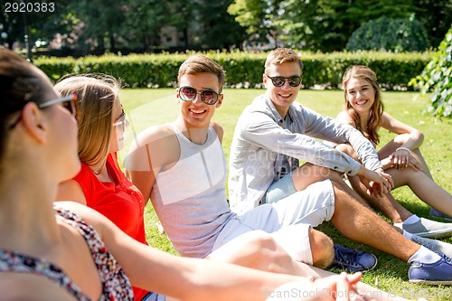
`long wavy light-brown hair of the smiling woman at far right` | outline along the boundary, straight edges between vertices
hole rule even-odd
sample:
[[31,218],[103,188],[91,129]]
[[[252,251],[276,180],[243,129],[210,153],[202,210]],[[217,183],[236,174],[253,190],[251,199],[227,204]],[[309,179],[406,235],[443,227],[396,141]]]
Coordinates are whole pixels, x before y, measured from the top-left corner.
[[[375,100],[371,108],[369,115],[369,120],[367,121],[366,128],[361,127],[361,118],[358,113],[354,110],[352,105],[347,99],[347,84],[352,78],[363,79],[369,82],[373,89],[375,90]],[[378,130],[381,127],[381,116],[383,114],[384,106],[381,100],[381,89],[377,81],[377,75],[372,69],[367,66],[355,65],[349,67],[344,72],[343,77],[344,86],[344,110],[350,118],[352,118],[354,127],[358,129],[366,138],[378,144],[380,142],[380,136],[378,135]]]

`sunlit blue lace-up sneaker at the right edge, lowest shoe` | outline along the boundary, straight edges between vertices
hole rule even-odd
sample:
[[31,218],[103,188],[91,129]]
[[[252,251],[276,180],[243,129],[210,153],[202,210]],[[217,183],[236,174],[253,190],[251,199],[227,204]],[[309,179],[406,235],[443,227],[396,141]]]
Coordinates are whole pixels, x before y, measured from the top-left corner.
[[408,270],[410,282],[428,285],[452,285],[452,259],[441,253],[437,262],[420,263],[413,262]]

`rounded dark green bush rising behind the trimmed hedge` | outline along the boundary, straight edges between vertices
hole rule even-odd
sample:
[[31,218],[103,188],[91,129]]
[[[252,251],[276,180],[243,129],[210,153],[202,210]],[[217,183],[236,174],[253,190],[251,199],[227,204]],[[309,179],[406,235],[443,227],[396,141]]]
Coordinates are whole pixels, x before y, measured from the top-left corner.
[[428,48],[428,34],[418,20],[383,16],[358,28],[347,43],[347,51],[385,50],[422,52]]

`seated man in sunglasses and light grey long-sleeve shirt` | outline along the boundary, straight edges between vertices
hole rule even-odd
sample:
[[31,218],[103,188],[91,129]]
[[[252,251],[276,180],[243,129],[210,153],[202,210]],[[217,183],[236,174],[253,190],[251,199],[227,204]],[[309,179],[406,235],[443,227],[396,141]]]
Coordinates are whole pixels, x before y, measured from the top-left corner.
[[[388,227],[386,221],[376,218],[341,177],[344,173],[359,176],[367,193],[381,198],[391,191],[391,176],[383,173],[372,144],[353,127],[336,124],[295,102],[303,67],[296,52],[284,48],[270,52],[265,67],[263,81],[267,92],[245,108],[232,139],[231,209],[243,213],[260,203],[297,202],[307,186],[321,182],[320,189],[333,187],[332,203],[317,200],[297,204],[303,206],[306,222],[312,226],[332,221],[344,236],[409,262],[438,262],[439,255],[430,249],[452,254],[451,245],[437,240],[422,240],[430,249],[419,245],[410,245],[410,250],[396,247],[407,243],[407,239]],[[315,138],[349,143],[363,165]],[[306,163],[299,166],[298,160]],[[383,242],[389,238],[392,243]],[[448,276],[441,273],[440,277]],[[431,279],[410,275],[410,280]]]

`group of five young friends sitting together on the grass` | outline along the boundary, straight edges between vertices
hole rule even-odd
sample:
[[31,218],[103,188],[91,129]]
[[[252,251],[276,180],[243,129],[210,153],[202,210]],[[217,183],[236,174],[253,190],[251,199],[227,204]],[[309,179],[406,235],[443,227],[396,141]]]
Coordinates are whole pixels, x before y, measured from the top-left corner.
[[[227,101],[225,71],[189,57],[178,72],[178,117],[134,137],[125,173],[118,80],[70,75],[53,86],[0,49],[2,297],[288,300],[297,289],[293,300],[404,300],[360,282],[377,258],[334,244],[315,230],[324,221],[408,262],[410,282],[452,284],[452,245],[435,240],[452,236],[452,223],[391,196],[408,185],[432,214],[452,216],[452,196],[420,153],[423,134],[384,112],[370,68],[345,71],[335,119],[296,102],[302,73],[297,52],[268,53],[266,90],[237,121],[228,173],[212,120]],[[381,127],[396,136],[377,152]],[[181,257],[147,245],[149,200]]]

